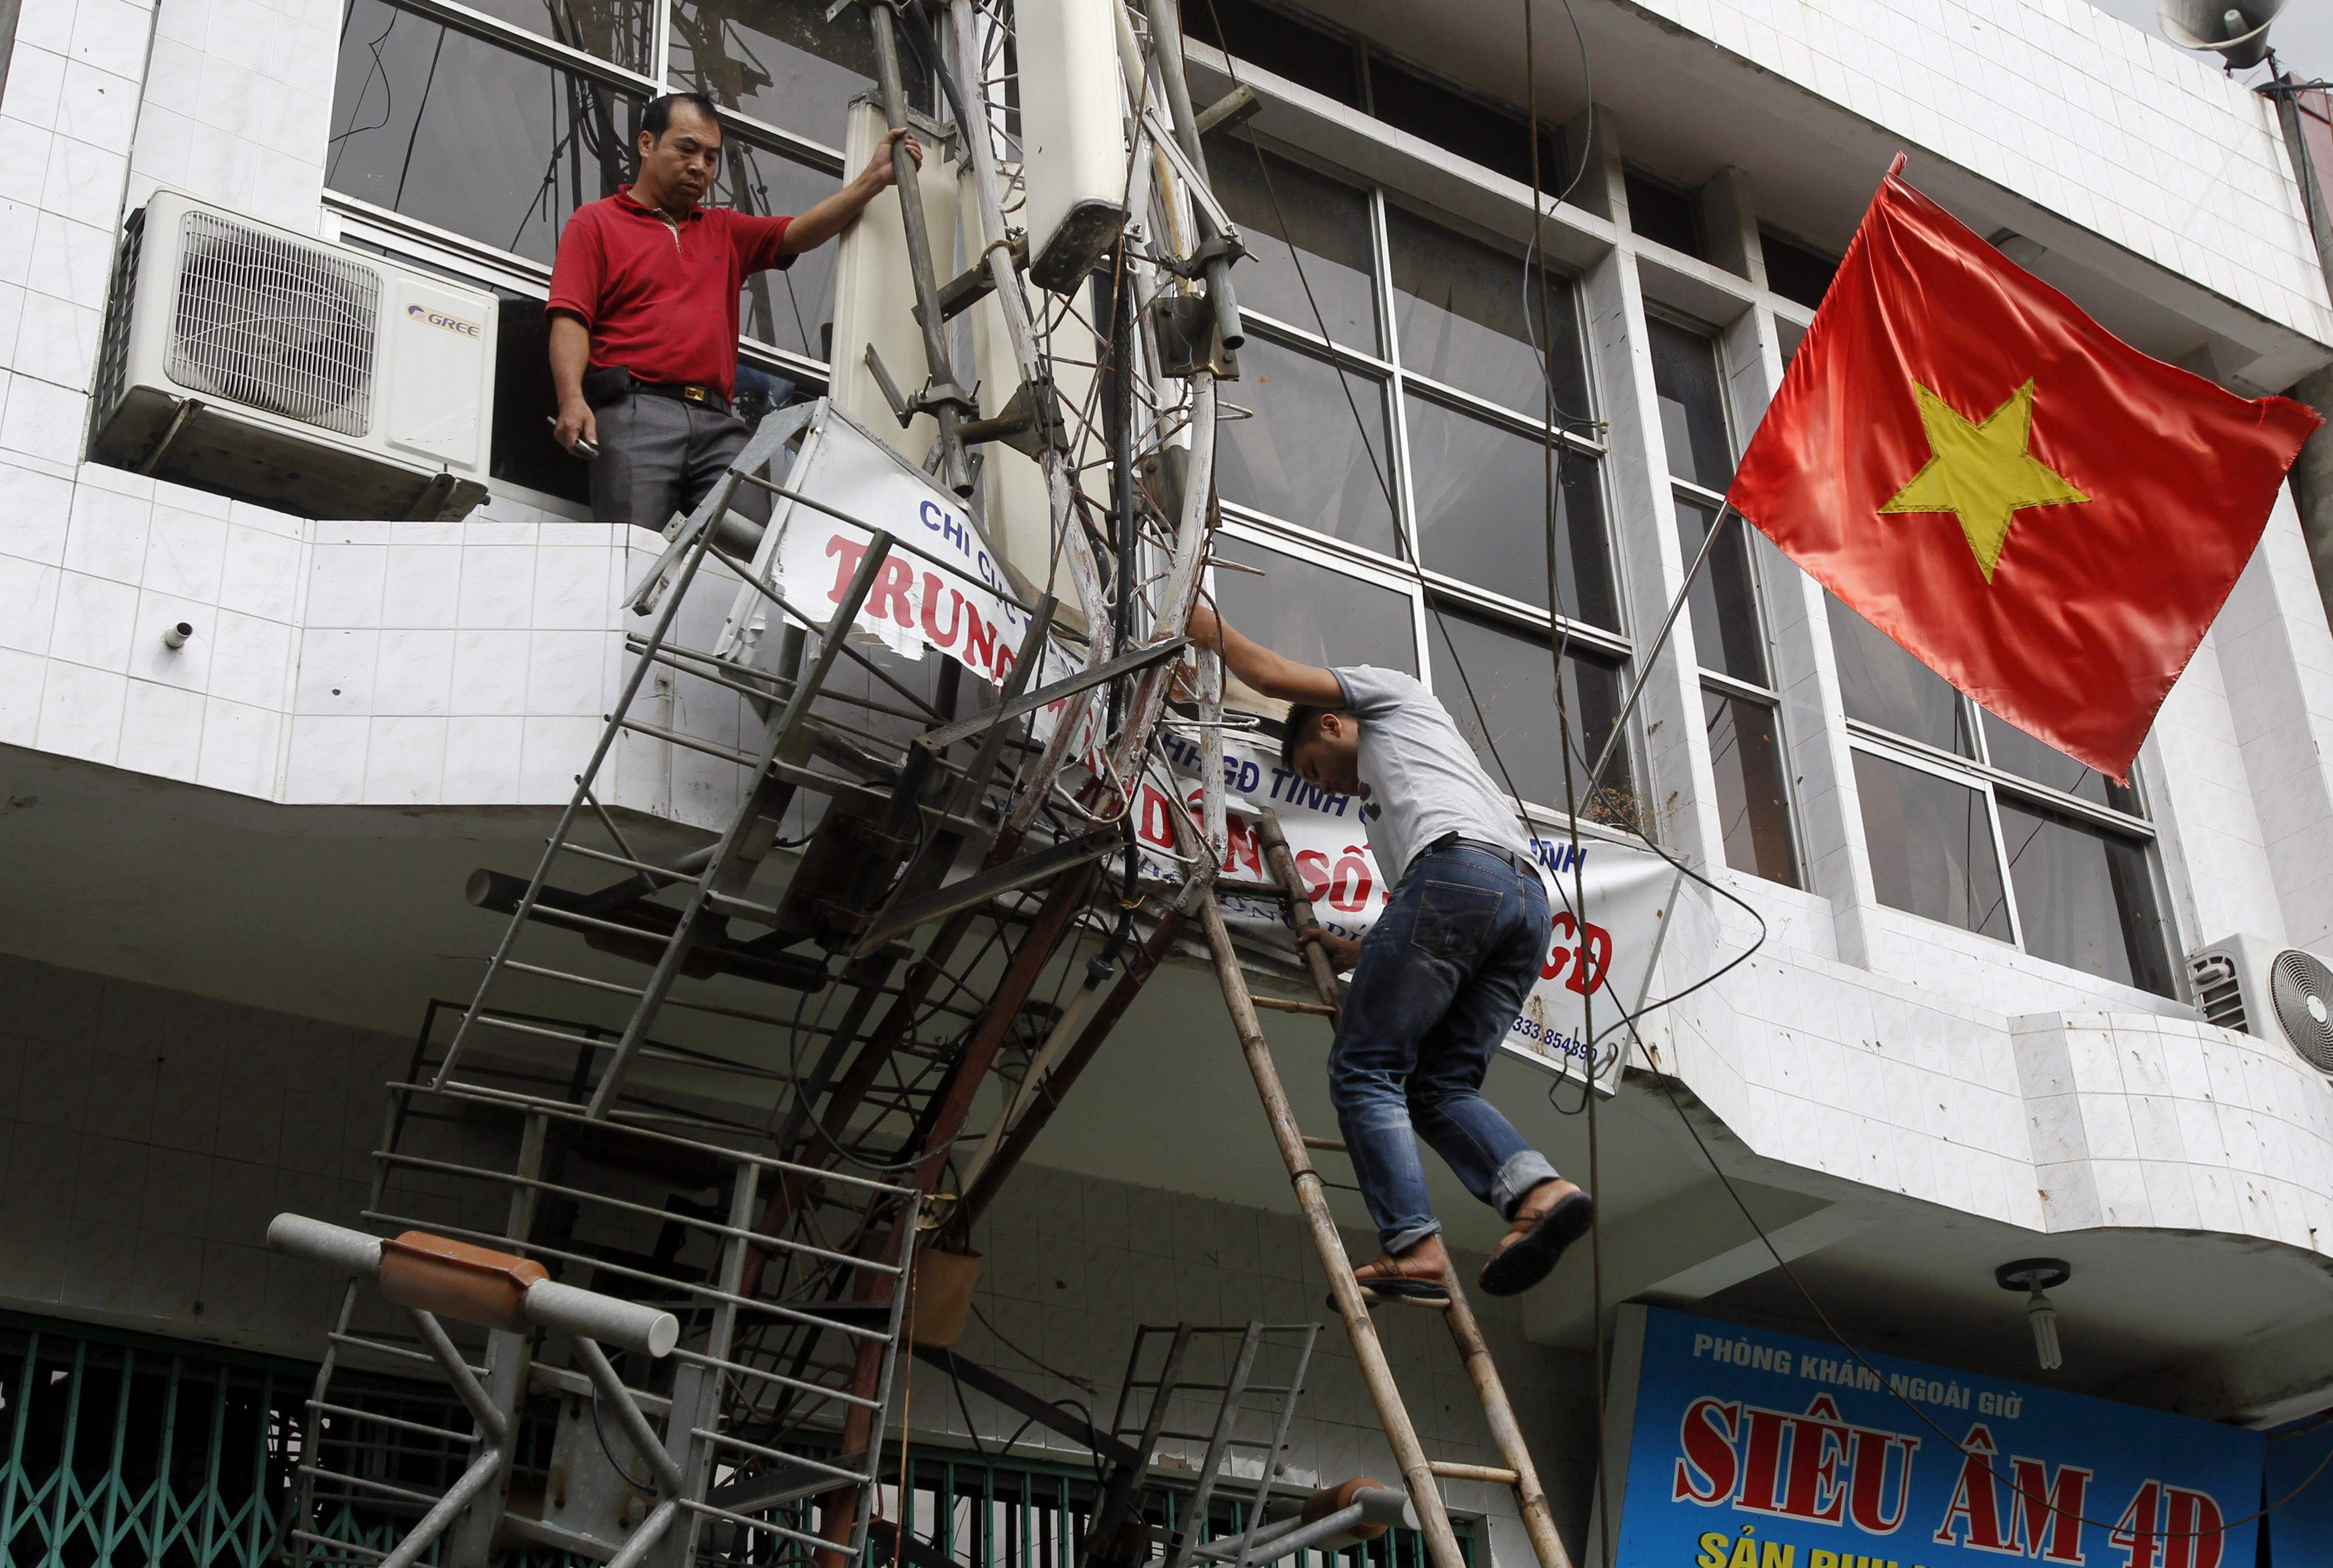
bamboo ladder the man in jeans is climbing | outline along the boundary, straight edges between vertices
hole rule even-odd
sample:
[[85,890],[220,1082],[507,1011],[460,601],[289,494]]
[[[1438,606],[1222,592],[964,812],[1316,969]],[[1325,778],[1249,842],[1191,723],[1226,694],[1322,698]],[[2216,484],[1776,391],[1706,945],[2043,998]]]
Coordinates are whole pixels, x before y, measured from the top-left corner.
[[[1281,819],[1271,810],[1264,810],[1260,838],[1264,845],[1264,859],[1271,868],[1271,877],[1281,884],[1281,894],[1288,901],[1290,919],[1297,929],[1313,922],[1311,898],[1304,896],[1304,882],[1297,877],[1295,856],[1288,852],[1288,838],[1281,833]],[[1297,1206],[1304,1209],[1304,1225],[1311,1232],[1313,1248],[1320,1253],[1320,1262],[1327,1269],[1330,1297],[1337,1302],[1337,1316],[1344,1318],[1344,1330],[1353,1339],[1353,1356],[1360,1360],[1360,1374],[1369,1384],[1369,1400],[1376,1405],[1376,1419],[1386,1428],[1386,1442],[1393,1444],[1393,1458],[1402,1468],[1402,1486],[1416,1507],[1418,1524],[1425,1533],[1425,1554],[1432,1568],[1463,1568],[1458,1556],[1458,1538],[1451,1531],[1449,1512],[1442,1507],[1442,1493],[1435,1482],[1498,1482],[1514,1493],[1514,1507],[1523,1519],[1523,1531],[1530,1538],[1530,1549],[1540,1559],[1540,1568],[1572,1568],[1570,1554],[1563,1549],[1563,1538],[1556,1535],[1556,1519],[1547,1507],[1547,1493],[1540,1489],[1540,1475],[1530,1463],[1530,1449],[1523,1447],[1523,1433],[1514,1421],[1514,1407],[1507,1402],[1507,1388],[1498,1381],[1498,1367],[1491,1363],[1491,1349],[1484,1344],[1481,1328],[1474,1323],[1474,1309],[1467,1307],[1465,1290],[1451,1279],[1451,1295],[1446,1304],[1430,1304],[1428,1309],[1439,1311],[1451,1330],[1451,1344],[1458,1349],[1458,1360],[1465,1365],[1467,1379],[1474,1384],[1474,1395],[1481,1400],[1484,1421],[1491,1426],[1491,1444],[1498,1449],[1498,1465],[1460,1465],[1425,1458],[1425,1449],[1418,1442],[1418,1430],[1409,1421],[1409,1409],[1402,1405],[1402,1391],[1393,1381],[1393,1367],[1386,1363],[1386,1346],[1376,1337],[1376,1323],[1369,1318],[1369,1302],[1362,1297],[1360,1286],[1353,1279],[1353,1260],[1344,1251],[1344,1237],[1337,1232],[1337,1220],[1327,1211],[1327,1190],[1320,1181],[1320,1171],[1313,1169],[1311,1150],[1334,1150],[1344,1153],[1344,1143],[1334,1139],[1309,1139],[1297,1129],[1295,1111],[1288,1106],[1288,1092],[1281,1087],[1281,1071],[1271,1062],[1271,1048],[1264,1043],[1264,1029],[1255,1017],[1255,996],[1248,992],[1248,978],[1241,971],[1239,954],[1232,950],[1232,933],[1225,926],[1222,908],[1213,896],[1199,905],[1199,917],[1206,926],[1206,943],[1215,957],[1215,978],[1222,982],[1222,1001],[1232,1013],[1232,1027],[1239,1031],[1239,1048],[1248,1057],[1248,1071],[1255,1073],[1255,1090],[1264,1101],[1264,1115],[1271,1122],[1271,1136],[1281,1146],[1281,1160],[1288,1162],[1288,1176],[1297,1190]],[[1318,1003],[1269,1003],[1281,1008],[1295,1008],[1302,1013],[1320,1013],[1332,1024],[1339,1010],[1339,987],[1337,975],[1327,964],[1327,954],[1318,947],[1306,945],[1306,964],[1311,968],[1313,985],[1320,989]],[[1407,1304],[1416,1309],[1416,1304]]]

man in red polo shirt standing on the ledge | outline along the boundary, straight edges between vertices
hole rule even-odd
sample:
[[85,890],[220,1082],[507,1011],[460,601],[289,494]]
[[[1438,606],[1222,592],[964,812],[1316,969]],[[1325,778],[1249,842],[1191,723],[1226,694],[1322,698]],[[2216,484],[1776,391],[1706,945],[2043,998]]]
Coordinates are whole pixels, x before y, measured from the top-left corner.
[[[905,138],[905,140],[903,140]],[[721,168],[721,124],[702,93],[665,93],[639,117],[639,173],[576,210],[551,266],[551,385],[560,446],[597,446],[590,509],[602,523],[665,527],[693,511],[744,446],[737,289],[842,233],[894,184],[889,133],[859,177],[798,217],[702,205]]]

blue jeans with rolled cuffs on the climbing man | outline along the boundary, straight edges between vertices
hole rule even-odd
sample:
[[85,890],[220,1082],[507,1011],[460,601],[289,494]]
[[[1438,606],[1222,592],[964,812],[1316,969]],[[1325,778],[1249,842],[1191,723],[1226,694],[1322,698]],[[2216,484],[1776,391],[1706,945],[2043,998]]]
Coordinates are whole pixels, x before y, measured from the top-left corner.
[[1442,1230],[1411,1129],[1500,1218],[1556,1174],[1481,1097],[1491,1052],[1540,978],[1547,933],[1540,880],[1460,842],[1411,861],[1360,943],[1327,1092],[1388,1253]]

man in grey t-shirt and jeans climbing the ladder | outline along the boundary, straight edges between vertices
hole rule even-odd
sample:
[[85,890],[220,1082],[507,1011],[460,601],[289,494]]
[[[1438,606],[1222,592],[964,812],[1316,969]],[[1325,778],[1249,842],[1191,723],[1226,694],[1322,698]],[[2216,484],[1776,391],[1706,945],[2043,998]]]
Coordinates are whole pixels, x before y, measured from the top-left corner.
[[[1393,896],[1360,943],[1297,933],[1351,968],[1330,1101],[1386,1255],[1355,1269],[1376,1295],[1449,1295],[1451,1258],[1416,1136],[1509,1220],[1481,1269],[1488,1295],[1547,1279],[1593,1204],[1481,1097],[1547,959],[1547,884],[1530,840],[1449,712],[1400,670],[1299,665],[1192,609],[1190,637],[1241,681],[1290,702],[1281,761],[1362,798]],[[1416,1134],[1416,1136],[1411,1136]]]

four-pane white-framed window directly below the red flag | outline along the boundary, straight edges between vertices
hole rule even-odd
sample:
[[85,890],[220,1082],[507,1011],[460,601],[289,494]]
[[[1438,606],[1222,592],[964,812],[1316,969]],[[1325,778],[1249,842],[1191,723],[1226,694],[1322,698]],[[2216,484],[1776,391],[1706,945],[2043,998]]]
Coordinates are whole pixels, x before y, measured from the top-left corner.
[[2104,779],[1827,604],[1880,903],[2177,996],[2137,772]]

